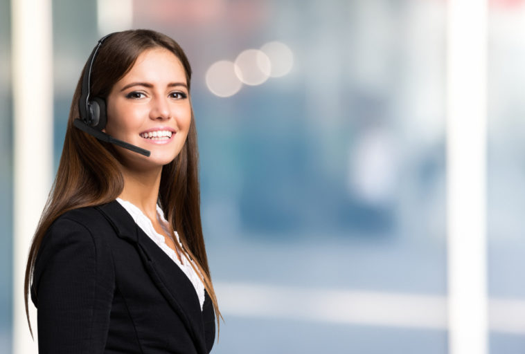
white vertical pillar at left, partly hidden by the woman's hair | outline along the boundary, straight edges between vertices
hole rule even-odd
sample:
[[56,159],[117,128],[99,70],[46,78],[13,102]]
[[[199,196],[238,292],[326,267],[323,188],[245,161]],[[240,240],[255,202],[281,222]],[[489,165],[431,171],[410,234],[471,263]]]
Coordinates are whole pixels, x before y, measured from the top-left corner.
[[12,0],[14,127],[13,353],[37,353],[24,310],[30,240],[51,187],[53,169],[53,49],[51,0]]

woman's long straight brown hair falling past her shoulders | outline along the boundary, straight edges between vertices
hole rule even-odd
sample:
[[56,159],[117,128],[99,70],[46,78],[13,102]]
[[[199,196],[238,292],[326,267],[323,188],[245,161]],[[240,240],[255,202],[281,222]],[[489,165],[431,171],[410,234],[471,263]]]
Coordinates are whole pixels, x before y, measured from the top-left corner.
[[[170,50],[179,58],[186,72],[189,90],[191,67],[177,42],[152,30],[127,30],[114,33],[100,46],[91,71],[92,97],[107,97],[114,84],[130,71],[136,58],[144,50],[158,47]],[[73,120],[80,116],[78,100],[81,86],[82,75],[73,94],[57,175],[29,250],[24,301],[31,335],[33,330],[28,313],[28,292],[38,250],[46,231],[60,215],[71,209],[114,201],[124,187],[114,147],[73,127]],[[219,317],[222,315],[213,290],[202,236],[198,165],[197,130],[192,109],[190,129],[184,146],[177,158],[162,168],[159,202],[170,227],[177,230],[184,250],[204,278],[204,287],[213,302],[218,328]],[[177,242],[175,246],[179,248]]]

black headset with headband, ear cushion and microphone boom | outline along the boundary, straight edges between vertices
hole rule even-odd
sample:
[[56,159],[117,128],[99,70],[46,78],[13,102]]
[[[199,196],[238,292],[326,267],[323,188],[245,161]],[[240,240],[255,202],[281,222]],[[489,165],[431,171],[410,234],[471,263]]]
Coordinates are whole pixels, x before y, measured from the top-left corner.
[[78,100],[78,113],[80,113],[80,118],[75,118],[75,120],[73,120],[73,125],[81,131],[94,136],[98,140],[110,142],[144,156],[150,156],[150,151],[132,145],[129,142],[118,140],[109,136],[109,134],[104,133],[102,130],[106,127],[107,123],[106,101],[102,97],[90,97],[91,70],[93,69],[93,64],[100,46],[102,46],[104,41],[112,35],[114,35],[114,33],[110,33],[109,35],[100,38],[95,48],[91,51],[91,55],[89,55],[89,58],[87,59],[84,73],[82,74],[80,99]]

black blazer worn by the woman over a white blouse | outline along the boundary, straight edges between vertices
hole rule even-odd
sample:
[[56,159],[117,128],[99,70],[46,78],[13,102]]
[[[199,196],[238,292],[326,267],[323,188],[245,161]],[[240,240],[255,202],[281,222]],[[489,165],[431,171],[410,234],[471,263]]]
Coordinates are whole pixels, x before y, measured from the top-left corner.
[[44,236],[31,299],[39,353],[204,354],[215,339],[186,274],[117,202],[66,212]]

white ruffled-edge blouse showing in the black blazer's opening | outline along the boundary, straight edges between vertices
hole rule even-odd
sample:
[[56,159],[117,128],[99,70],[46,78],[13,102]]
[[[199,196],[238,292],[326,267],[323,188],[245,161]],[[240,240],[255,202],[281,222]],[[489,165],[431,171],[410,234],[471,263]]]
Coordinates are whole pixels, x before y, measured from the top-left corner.
[[[190,279],[191,283],[193,283],[193,287],[195,288],[195,291],[197,292],[197,297],[199,297],[199,303],[201,305],[201,310],[202,310],[202,306],[204,304],[204,283],[202,282],[202,277],[200,276],[200,274],[197,274],[195,270],[193,270],[193,267],[188,262],[189,256],[188,258],[186,258],[181,255],[181,260],[182,260],[182,263],[181,263],[175,251],[172,250],[172,248],[170,248],[170,246],[166,244],[166,240],[164,239],[164,236],[162,236],[161,234],[158,234],[157,231],[155,231],[150,219],[148,218],[148,216],[144,215],[144,213],[142,212],[141,209],[139,209],[139,207],[136,207],[134,204],[128,201],[124,201],[121,198],[116,198],[116,200],[118,201],[118,203],[121,203],[121,205],[124,207],[124,209],[127,210],[128,213],[130,213],[135,223],[141,227],[143,232],[147,234],[150,237],[150,239],[152,239],[153,242],[156,243],[161,248],[161,250],[164,251],[164,253],[168,254],[168,257],[170,257],[170,259],[172,259],[172,261],[174,261],[175,264],[179,265],[179,268],[181,268],[184,274],[186,274],[186,277]],[[157,219],[161,223],[163,230],[166,232],[166,234],[168,234],[167,232],[168,221],[166,221],[166,218],[164,218],[164,212],[162,211],[161,207],[159,207],[158,204],[157,204]],[[175,231],[174,234],[175,234],[175,237],[177,238],[177,242],[179,243],[182,249],[182,243],[179,239],[179,234],[177,233],[177,231]],[[193,263],[193,265],[195,265],[195,263]]]

